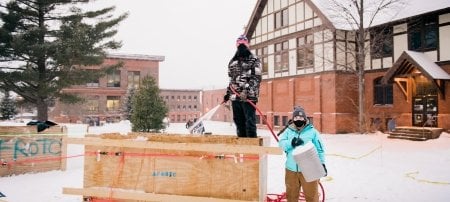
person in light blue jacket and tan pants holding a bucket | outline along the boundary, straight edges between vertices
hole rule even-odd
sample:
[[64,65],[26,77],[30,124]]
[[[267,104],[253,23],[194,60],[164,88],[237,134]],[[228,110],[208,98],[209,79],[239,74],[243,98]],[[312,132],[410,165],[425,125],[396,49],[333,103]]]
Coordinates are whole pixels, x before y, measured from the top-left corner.
[[297,202],[299,198],[300,188],[303,187],[303,193],[307,202],[318,202],[318,186],[319,180],[306,182],[301,169],[297,165],[292,152],[295,147],[312,142],[317,150],[319,159],[327,175],[325,166],[325,150],[323,148],[320,133],[309,122],[305,110],[300,107],[294,107],[292,113],[292,124],[281,134],[279,146],[286,153],[286,197],[288,202]]

